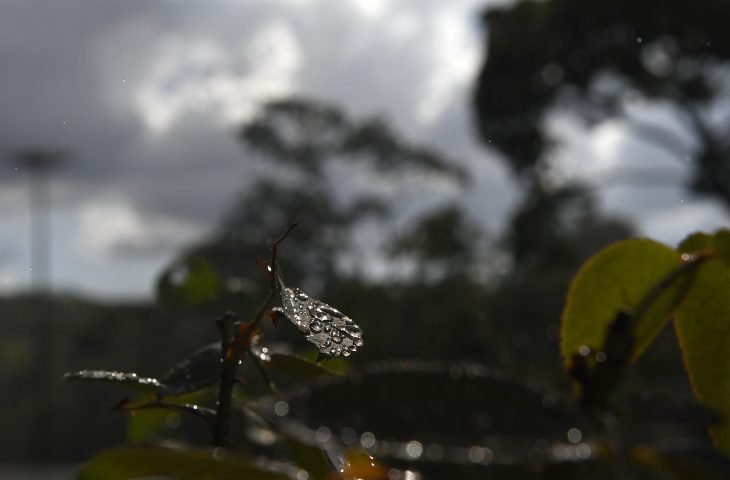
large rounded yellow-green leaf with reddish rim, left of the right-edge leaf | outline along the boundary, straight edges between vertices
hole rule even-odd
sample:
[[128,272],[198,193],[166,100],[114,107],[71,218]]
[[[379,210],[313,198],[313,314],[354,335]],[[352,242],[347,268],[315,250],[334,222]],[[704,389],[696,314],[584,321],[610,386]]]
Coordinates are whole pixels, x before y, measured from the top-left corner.
[[617,242],[591,257],[573,278],[563,309],[561,353],[566,367],[582,346],[600,350],[619,311],[638,315],[631,326],[635,360],[669,319],[686,282],[672,282],[648,304],[647,295],[680,264],[675,250],[647,239]]

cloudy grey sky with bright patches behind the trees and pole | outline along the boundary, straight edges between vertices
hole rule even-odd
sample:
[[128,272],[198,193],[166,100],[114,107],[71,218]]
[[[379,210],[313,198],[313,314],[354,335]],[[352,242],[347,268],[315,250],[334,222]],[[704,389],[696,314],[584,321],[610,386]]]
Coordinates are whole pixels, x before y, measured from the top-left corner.
[[[381,116],[458,159],[473,181],[450,195],[498,232],[518,189],[475,138],[469,102],[485,53],[479,13],[504,3],[0,0],[0,294],[32,276],[29,175],[15,152],[66,152],[50,187],[53,288],[151,298],[161,268],[216,227],[254,174],[236,129],[290,95]],[[665,107],[642,111],[671,127]],[[620,124],[551,122],[558,163],[580,179],[636,155],[667,162]],[[677,165],[657,188],[599,188],[600,205],[670,244],[727,224],[718,205],[688,196],[688,172]]]

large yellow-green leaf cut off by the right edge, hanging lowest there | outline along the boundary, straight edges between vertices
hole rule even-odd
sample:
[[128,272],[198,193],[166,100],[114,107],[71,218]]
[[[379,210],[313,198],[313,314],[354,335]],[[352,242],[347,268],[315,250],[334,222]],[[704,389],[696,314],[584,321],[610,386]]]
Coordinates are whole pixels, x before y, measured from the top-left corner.
[[674,324],[697,399],[725,418],[711,428],[713,440],[730,454],[730,267],[726,263],[713,259],[702,266]]

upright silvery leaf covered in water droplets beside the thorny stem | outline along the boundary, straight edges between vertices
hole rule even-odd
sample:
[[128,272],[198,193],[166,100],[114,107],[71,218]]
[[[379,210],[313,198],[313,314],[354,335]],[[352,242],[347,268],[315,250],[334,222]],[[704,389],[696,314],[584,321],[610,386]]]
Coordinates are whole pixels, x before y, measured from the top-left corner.
[[348,316],[298,288],[281,290],[284,315],[325,356],[349,357],[363,346],[362,329]]

